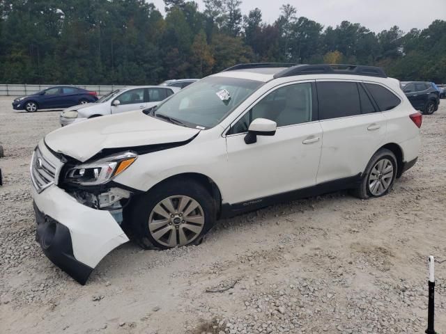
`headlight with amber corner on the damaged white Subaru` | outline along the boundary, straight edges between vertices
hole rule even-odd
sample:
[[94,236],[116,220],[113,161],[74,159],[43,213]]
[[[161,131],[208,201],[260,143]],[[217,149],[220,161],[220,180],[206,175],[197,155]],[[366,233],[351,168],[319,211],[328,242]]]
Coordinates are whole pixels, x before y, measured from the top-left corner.
[[123,173],[137,157],[138,155],[134,152],[122,152],[81,164],[68,170],[65,181],[82,186],[105,184]]

